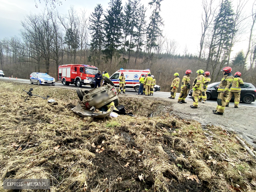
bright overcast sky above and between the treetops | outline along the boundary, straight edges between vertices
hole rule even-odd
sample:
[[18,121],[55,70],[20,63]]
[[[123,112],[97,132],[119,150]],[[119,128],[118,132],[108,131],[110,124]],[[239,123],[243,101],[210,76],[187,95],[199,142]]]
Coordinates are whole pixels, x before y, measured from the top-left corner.
[[[35,7],[34,0],[0,0],[0,39],[11,36],[19,36],[21,29],[20,21],[24,19],[26,14],[40,13],[45,8],[45,3],[41,0],[38,3],[38,8]],[[147,7],[147,20],[152,10],[148,6],[150,0],[141,0],[141,4]],[[219,0],[215,0],[216,3]],[[233,0],[234,6],[238,0]],[[38,2],[38,0],[37,0]],[[56,10],[60,13],[67,13],[71,5],[74,5],[76,10],[85,8],[88,16],[97,3],[103,6],[103,9],[108,8],[109,0],[63,0],[63,4],[56,6]],[[125,5],[126,0],[122,0],[122,5]],[[248,0],[245,7],[245,14],[251,14],[251,7],[254,0]],[[198,48],[201,38],[201,14],[202,0],[163,0],[161,3],[160,15],[164,21],[163,34],[169,39],[175,39],[179,43],[178,53],[183,54],[184,47],[187,45],[188,52],[198,54]],[[251,26],[251,17],[246,19],[248,26]],[[233,48],[233,53],[240,50],[246,52],[248,46],[248,34],[241,36],[240,42]]]

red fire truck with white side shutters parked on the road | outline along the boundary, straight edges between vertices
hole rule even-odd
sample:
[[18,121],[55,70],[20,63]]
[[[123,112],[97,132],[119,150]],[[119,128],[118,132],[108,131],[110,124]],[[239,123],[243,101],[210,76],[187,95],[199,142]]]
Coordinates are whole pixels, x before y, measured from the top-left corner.
[[60,65],[59,80],[63,85],[75,84],[76,87],[90,84],[95,86],[94,76],[98,73],[98,68],[92,65]]

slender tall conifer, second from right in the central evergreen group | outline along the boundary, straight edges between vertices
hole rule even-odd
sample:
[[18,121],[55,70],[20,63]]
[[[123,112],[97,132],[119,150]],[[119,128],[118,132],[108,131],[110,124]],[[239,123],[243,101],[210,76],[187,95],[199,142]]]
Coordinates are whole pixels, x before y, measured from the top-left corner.
[[145,12],[146,9],[144,8],[144,5],[139,7],[138,11],[138,20],[136,25],[136,32],[135,32],[135,43],[136,43],[136,56],[135,56],[135,66],[137,62],[138,53],[141,52],[141,47],[144,45],[143,36],[145,35],[145,27],[146,27],[146,21],[145,21]]

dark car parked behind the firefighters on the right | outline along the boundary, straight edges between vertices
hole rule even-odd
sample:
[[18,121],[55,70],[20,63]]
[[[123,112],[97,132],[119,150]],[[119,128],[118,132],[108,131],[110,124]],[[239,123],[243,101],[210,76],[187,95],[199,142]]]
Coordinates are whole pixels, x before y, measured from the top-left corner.
[[[217,88],[219,86],[220,82],[211,83],[208,85],[206,95],[207,100],[209,99],[217,99],[218,98],[218,92]],[[192,96],[193,90],[191,89],[189,91],[189,96]],[[256,88],[251,83],[245,83],[243,87],[241,87],[241,95],[240,95],[240,101],[243,103],[251,103],[255,101],[256,99]],[[234,100],[234,95],[232,96],[232,99]]]

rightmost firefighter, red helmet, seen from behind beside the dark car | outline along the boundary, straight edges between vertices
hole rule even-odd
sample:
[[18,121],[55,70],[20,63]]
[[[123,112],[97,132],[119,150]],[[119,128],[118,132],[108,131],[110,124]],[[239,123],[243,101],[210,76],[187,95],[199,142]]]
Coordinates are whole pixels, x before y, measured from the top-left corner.
[[230,89],[230,93],[228,94],[228,97],[226,99],[226,107],[229,105],[229,101],[231,100],[233,94],[235,96],[235,108],[238,108],[238,104],[240,102],[240,93],[241,93],[241,87],[244,86],[243,79],[241,78],[241,73],[236,72],[234,76],[234,80],[232,83],[232,87]]

